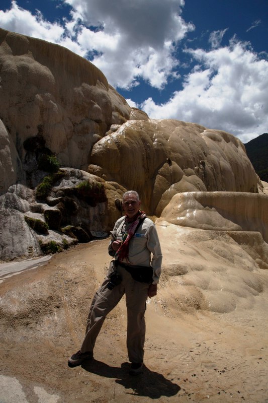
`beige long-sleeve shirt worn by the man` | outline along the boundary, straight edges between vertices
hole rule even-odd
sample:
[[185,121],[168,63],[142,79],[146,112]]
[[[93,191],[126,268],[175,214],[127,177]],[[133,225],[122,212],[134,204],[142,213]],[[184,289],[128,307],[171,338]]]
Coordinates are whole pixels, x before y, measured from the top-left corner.
[[[125,222],[125,217],[121,217],[115,223],[114,229],[111,231],[111,242],[108,246],[111,255],[115,254],[112,249],[112,242],[117,239],[122,240],[129,226],[130,224]],[[153,269],[153,284],[158,283],[161,274],[162,252],[155,225],[147,217],[138,226],[135,234],[130,239],[128,260],[129,264],[151,266]]]

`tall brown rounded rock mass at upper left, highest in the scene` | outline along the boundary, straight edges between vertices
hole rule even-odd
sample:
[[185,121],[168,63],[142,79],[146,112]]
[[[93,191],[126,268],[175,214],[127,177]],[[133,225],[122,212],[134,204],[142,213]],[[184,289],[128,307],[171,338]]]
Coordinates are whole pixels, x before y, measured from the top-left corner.
[[110,125],[129,118],[103,73],[61,46],[0,29],[0,66],[1,117],[22,160],[23,142],[39,133],[64,166],[83,169]]

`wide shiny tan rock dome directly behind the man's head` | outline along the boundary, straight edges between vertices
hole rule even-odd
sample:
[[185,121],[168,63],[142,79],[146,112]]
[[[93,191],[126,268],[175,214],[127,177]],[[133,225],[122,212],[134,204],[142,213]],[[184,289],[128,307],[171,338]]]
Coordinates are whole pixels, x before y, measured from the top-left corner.
[[238,139],[178,120],[112,126],[94,145],[91,162],[91,173],[137,189],[146,211],[157,216],[178,192],[257,192],[258,179]]

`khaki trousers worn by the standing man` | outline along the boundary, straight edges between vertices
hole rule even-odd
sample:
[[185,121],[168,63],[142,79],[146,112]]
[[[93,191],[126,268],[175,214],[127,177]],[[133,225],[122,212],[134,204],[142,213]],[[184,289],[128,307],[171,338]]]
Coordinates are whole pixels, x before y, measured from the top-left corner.
[[123,295],[126,295],[127,305],[127,350],[130,362],[143,362],[145,341],[146,300],[148,296],[147,283],[140,283],[132,279],[131,275],[120,264],[117,273],[121,275],[122,282],[112,290],[107,288],[109,275],[114,270],[113,261],[107,276],[95,294],[90,313],[87,318],[85,337],[81,345],[81,352],[93,352],[97,336],[102,328],[107,314],[119,303]]

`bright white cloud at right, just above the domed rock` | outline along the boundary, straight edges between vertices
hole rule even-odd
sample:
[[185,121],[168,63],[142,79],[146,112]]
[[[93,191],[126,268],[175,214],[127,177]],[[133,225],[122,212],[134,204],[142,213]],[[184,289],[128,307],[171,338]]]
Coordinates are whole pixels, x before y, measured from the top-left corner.
[[226,130],[244,143],[267,132],[268,61],[239,42],[211,51],[188,51],[199,66],[185,78],[183,90],[161,105],[148,98],[142,109],[152,118]]

